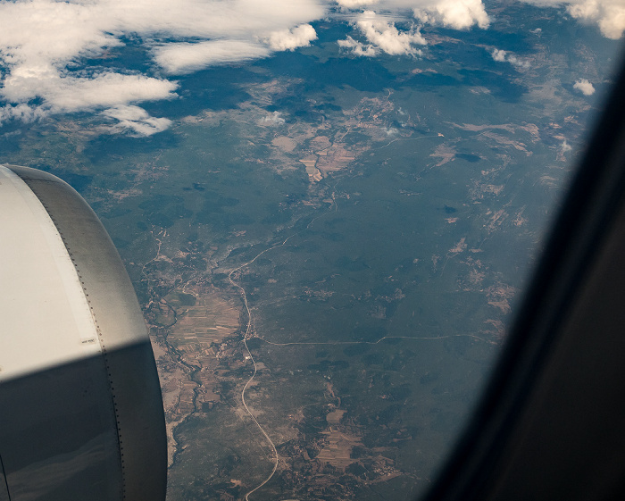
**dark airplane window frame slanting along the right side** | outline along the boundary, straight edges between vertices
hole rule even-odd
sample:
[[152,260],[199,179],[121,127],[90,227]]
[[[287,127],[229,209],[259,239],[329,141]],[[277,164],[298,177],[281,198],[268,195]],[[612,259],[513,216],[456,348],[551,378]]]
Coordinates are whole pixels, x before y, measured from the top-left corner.
[[[618,307],[598,313],[589,309],[596,290],[596,299],[606,305],[618,305],[619,296],[625,297],[625,285],[617,280],[625,265],[615,266],[606,257],[609,252],[625,252],[624,214],[622,66],[483,397],[425,501],[553,499],[554,495],[612,499],[625,495],[625,462],[619,461],[625,457],[625,430],[600,430],[608,422],[625,421],[625,404],[610,404],[610,398],[616,397],[615,392],[621,388],[620,380],[625,380],[625,365],[615,366],[615,354],[625,350],[625,344],[619,344],[623,313]],[[611,280],[617,283],[610,283]],[[609,294],[617,296],[608,297]],[[589,318],[593,316],[597,318]],[[598,324],[595,332],[587,333],[596,344],[592,354],[581,353],[574,339],[577,326],[585,321]],[[562,352],[568,356],[565,362]],[[554,372],[567,363],[571,366],[575,362],[571,357],[582,361],[580,371],[590,366],[585,359],[594,357],[590,362],[598,370],[583,374],[587,385],[570,388],[570,395],[565,398],[577,399],[571,405],[579,408],[580,415],[574,416],[571,423],[560,423],[562,437],[555,438],[548,430],[554,429],[552,421],[559,409],[554,404],[538,407],[537,395],[554,390]],[[569,372],[558,374],[561,380],[575,380],[575,376]],[[596,383],[614,376],[621,378],[614,388],[604,390],[605,395],[589,393]],[[603,404],[591,408],[589,405],[597,399]],[[579,453],[585,457],[580,458],[557,448],[561,438],[586,443],[585,438],[599,431],[612,434],[607,450],[588,442],[587,447],[581,447]],[[537,436],[543,440],[539,444]],[[528,455],[520,449],[528,447],[536,447],[531,452],[534,457],[538,458],[542,451],[557,457],[559,463],[554,464],[552,472],[539,472],[537,464],[521,463],[521,457]],[[607,461],[612,471],[604,472],[602,479],[593,478],[597,476],[593,461]],[[585,462],[587,472],[571,476]],[[551,478],[540,483],[531,475]],[[567,476],[569,486],[562,488],[562,479]]]

